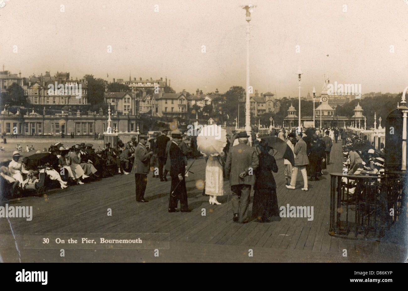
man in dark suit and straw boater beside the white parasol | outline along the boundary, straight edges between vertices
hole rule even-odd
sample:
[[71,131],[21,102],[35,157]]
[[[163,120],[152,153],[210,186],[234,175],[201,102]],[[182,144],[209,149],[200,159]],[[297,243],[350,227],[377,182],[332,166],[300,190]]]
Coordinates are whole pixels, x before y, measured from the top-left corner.
[[186,163],[184,154],[179,147],[182,141],[182,133],[179,130],[171,132],[171,145],[169,148],[169,157],[171,159],[170,176],[171,189],[169,199],[169,212],[178,212],[177,203],[180,200],[181,212],[190,212],[187,204],[187,189],[186,179],[184,177],[186,171]]

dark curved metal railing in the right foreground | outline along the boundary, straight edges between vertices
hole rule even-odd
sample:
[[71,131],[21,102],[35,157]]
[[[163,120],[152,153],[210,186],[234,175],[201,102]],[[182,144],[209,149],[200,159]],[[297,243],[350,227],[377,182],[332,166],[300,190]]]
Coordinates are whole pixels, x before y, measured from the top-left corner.
[[[331,236],[376,240],[393,223],[407,223],[406,174],[330,174]],[[401,221],[399,221],[401,223]]]

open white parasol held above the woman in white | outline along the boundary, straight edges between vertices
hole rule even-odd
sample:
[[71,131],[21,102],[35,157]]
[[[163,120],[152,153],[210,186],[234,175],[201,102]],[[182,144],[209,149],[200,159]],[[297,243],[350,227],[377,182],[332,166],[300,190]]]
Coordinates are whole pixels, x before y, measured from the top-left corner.
[[226,133],[221,126],[205,125],[197,136],[197,150],[205,157],[219,156],[227,144]]

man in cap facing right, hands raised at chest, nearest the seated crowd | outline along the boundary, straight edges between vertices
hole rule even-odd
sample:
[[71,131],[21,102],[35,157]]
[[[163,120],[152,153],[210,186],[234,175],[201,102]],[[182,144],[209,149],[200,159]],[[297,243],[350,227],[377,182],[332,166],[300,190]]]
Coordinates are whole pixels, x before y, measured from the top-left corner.
[[144,199],[144,192],[147,186],[147,174],[150,171],[150,158],[153,152],[147,152],[145,147],[147,142],[147,135],[140,134],[139,143],[136,146],[135,162],[133,163],[132,172],[135,174],[136,182],[136,201],[149,202]]

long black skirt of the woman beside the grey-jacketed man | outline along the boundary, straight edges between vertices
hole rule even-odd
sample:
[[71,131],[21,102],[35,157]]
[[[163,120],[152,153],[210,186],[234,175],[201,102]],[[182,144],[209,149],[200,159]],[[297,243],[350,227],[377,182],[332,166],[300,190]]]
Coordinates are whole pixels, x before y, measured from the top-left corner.
[[252,216],[258,219],[279,216],[276,188],[255,190],[252,203]]

